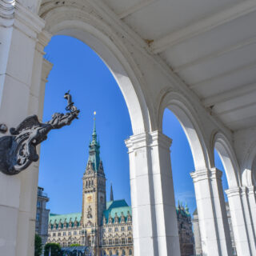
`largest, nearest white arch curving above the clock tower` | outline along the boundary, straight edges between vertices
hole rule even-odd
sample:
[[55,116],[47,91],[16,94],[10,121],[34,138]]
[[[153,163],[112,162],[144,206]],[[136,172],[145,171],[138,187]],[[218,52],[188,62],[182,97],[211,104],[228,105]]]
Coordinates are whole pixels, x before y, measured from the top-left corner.
[[[85,10],[74,7],[59,6],[50,9],[44,12],[42,18],[46,20],[46,31],[50,34],[78,38],[95,50],[118,82],[128,107],[133,133],[150,131],[152,123],[149,113],[154,111],[148,110],[141,89],[143,82],[138,74],[139,70],[110,28],[104,22],[95,20],[95,17]],[[113,34],[113,37],[110,34]]]

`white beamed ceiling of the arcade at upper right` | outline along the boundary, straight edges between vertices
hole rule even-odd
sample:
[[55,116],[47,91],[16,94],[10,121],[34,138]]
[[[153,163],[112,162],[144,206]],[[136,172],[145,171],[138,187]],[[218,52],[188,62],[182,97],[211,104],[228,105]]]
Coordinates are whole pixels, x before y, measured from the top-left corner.
[[256,0],[102,2],[226,126],[256,126]]

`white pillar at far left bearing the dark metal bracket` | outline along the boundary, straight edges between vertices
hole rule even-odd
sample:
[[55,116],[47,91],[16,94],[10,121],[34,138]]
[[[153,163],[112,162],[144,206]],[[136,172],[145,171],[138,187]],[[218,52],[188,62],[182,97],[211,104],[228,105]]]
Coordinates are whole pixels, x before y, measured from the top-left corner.
[[[41,18],[18,2],[0,0],[0,123],[6,123],[8,128],[18,126],[27,117],[35,46],[43,26]],[[23,214],[31,195],[26,202],[22,199],[23,186],[30,187],[31,183],[30,179],[24,182],[22,174],[0,173],[0,252],[3,255],[32,255],[34,238],[31,243],[28,237],[33,227],[27,225],[31,215]],[[22,250],[18,251],[22,243]]]

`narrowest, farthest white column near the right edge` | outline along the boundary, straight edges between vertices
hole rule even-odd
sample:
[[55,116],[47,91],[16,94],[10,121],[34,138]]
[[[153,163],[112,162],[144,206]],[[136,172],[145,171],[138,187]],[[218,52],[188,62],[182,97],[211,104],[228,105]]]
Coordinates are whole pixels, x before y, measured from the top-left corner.
[[238,255],[251,254],[250,238],[246,227],[245,213],[242,205],[242,190],[240,187],[225,190],[229,199],[230,217],[234,233],[234,242]]

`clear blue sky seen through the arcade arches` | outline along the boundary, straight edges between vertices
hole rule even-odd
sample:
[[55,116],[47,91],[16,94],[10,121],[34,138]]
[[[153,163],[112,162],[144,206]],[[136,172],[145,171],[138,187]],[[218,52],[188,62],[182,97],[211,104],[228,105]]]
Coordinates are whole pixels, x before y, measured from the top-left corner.
[[[112,182],[114,198],[125,198],[130,204],[129,159],[124,140],[130,137],[132,130],[118,84],[102,59],[75,38],[55,36],[45,51],[54,67],[46,84],[43,121],[48,121],[54,112],[65,112],[63,95],[67,90],[81,110],[78,120],[61,130],[52,130],[42,142],[38,185],[44,187],[50,197],[47,207],[57,214],[82,210],[82,174],[88,158],[94,111],[107,178],[107,199]],[[163,133],[173,139],[171,162],[175,198],[187,202],[192,213],[196,207],[190,178],[194,170],[193,158],[182,126],[170,110],[164,114]],[[223,170],[218,157],[216,166]],[[227,188],[225,175],[223,186]]]

